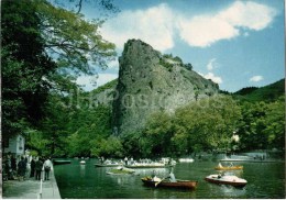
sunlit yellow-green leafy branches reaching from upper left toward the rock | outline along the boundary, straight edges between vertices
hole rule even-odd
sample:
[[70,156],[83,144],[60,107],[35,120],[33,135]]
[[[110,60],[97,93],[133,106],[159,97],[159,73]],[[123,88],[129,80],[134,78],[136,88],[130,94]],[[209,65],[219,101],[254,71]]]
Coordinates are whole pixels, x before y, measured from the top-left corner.
[[47,1],[35,1],[41,19],[40,30],[45,47],[59,67],[73,67],[76,73],[94,74],[90,64],[107,67],[113,58],[114,44],[102,38],[98,29],[102,22],[87,21],[82,14],[56,8]]

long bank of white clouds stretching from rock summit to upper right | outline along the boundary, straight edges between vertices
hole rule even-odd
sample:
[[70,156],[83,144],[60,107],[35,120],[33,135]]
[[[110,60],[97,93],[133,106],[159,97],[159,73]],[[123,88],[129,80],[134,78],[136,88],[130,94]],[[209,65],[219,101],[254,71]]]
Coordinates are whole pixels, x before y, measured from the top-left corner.
[[161,3],[145,10],[120,12],[102,25],[101,33],[120,49],[129,38],[140,38],[164,52],[174,47],[174,38],[178,35],[197,47],[248,36],[251,31],[267,27],[275,15],[273,8],[251,1],[235,1],[216,13],[196,16]]

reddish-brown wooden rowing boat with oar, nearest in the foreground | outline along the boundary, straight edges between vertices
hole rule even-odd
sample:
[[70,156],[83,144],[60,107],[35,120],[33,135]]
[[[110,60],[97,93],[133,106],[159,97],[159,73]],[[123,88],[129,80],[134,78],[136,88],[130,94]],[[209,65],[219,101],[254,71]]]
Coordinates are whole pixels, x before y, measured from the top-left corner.
[[196,189],[198,181],[195,180],[178,180],[170,182],[169,180],[154,181],[151,177],[141,178],[143,184],[148,187],[164,187],[164,188],[177,188],[177,189]]

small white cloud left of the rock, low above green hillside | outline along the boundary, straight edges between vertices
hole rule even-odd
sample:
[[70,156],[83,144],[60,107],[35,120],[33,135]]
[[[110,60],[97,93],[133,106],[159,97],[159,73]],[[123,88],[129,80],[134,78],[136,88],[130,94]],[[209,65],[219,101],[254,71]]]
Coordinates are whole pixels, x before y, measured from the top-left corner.
[[96,89],[99,86],[103,86],[105,84],[114,80],[118,78],[116,74],[98,74],[95,76],[80,76],[77,78],[76,82],[80,85],[85,91],[90,91]]

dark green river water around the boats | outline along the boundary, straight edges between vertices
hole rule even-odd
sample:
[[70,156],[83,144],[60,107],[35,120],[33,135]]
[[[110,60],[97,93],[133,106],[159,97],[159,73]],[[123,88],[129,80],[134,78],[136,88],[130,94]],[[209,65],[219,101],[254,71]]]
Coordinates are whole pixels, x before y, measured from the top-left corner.
[[[280,199],[285,198],[284,163],[235,163],[244,169],[235,175],[248,180],[243,189],[220,186],[204,180],[216,174],[216,160],[178,163],[174,174],[178,179],[198,180],[194,191],[148,188],[141,178],[152,174],[153,169],[136,169],[135,175],[107,175],[109,167],[95,167],[97,159],[79,159],[72,164],[54,166],[62,198],[68,199]],[[158,177],[166,177],[169,169],[155,169]]]

